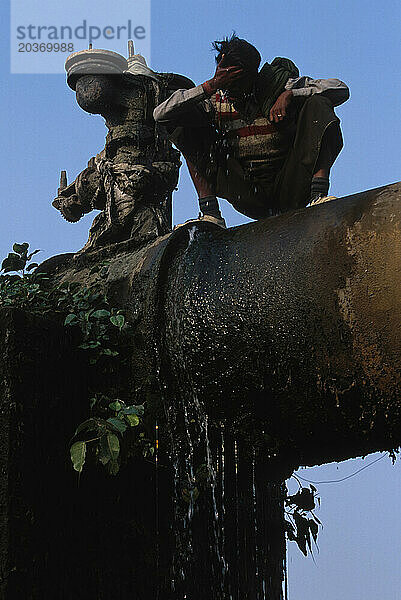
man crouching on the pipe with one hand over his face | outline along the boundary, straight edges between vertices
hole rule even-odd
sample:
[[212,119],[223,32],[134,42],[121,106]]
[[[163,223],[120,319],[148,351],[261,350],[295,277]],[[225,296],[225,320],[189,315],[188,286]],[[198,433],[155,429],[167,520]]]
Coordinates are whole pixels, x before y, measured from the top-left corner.
[[176,90],[154,110],[184,155],[199,219],[225,227],[217,197],[253,219],[328,197],[343,140],[334,107],[349,98],[339,79],[300,77],[287,58],[265,63],[232,35],[213,43],[214,76]]

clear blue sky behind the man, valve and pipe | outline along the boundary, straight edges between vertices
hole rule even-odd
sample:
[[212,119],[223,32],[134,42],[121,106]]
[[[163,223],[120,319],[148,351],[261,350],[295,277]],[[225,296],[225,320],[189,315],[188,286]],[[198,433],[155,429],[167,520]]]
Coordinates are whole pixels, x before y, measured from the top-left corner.
[[[59,6],[65,11],[64,3]],[[93,11],[82,6],[83,17],[93,17]],[[126,14],[127,6],[135,19],[135,2],[124,0],[113,5],[116,20]],[[28,241],[42,249],[39,257],[45,259],[78,250],[87,239],[93,216],[68,224],[51,201],[60,170],[66,169],[72,181],[103,148],[107,132],[101,117],[78,107],[63,75],[10,75],[7,2],[0,10],[0,251],[4,256],[14,241]],[[351,98],[337,109],[345,145],[332,171],[331,193],[344,196],[400,179],[399,0],[153,0],[151,15],[150,64],[157,71],[182,73],[201,83],[214,73],[211,41],[235,30],[265,61],[284,56],[303,75],[342,79]],[[117,49],[112,41],[103,47]],[[229,225],[247,221],[225,201],[222,210]],[[196,213],[196,196],[183,168],[174,220]],[[375,457],[301,474],[314,481],[337,479]],[[399,463],[392,466],[384,458],[343,483],[317,487],[324,522],[320,553],[314,564],[291,547],[291,600],[399,600]]]

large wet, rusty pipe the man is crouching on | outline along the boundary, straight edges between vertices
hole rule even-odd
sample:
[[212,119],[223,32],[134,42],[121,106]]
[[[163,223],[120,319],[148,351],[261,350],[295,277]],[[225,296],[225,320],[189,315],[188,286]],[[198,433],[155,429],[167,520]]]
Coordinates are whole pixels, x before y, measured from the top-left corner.
[[216,417],[255,417],[281,458],[342,460],[401,441],[400,200],[397,183],[227,231],[181,228],[71,257],[57,277],[88,281],[111,261],[138,388],[162,344],[172,394],[184,369]]

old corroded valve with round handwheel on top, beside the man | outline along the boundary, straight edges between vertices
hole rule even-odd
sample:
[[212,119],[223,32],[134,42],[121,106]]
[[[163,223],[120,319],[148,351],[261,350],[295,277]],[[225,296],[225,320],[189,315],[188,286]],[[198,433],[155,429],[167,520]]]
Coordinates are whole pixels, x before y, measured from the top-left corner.
[[108,128],[104,149],[92,157],[73,183],[66,175],[53,206],[69,222],[92,210],[89,239],[80,252],[134,238],[145,245],[171,231],[172,192],[178,183],[180,154],[153,119],[153,109],[189,79],[156,73],[128,45],[128,59],[110,50],[71,54],[67,83],[79,106],[101,114]]

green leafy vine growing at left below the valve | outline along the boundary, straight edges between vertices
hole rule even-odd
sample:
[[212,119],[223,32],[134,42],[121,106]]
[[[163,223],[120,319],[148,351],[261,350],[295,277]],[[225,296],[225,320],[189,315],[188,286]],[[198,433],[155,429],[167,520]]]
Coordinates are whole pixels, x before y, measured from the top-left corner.
[[[89,369],[96,366],[96,376],[90,385],[89,418],[79,424],[71,439],[70,456],[73,468],[81,473],[88,451],[108,473],[116,475],[124,460],[132,455],[151,457],[154,446],[148,439],[144,424],[144,404],[127,404],[117,398],[118,386],[109,384],[109,394],[99,372],[105,379],[127,362],[130,325],[124,312],[110,307],[101,290],[107,277],[108,262],[93,267],[90,274],[96,281],[90,286],[78,282],[52,285],[51,278],[30,262],[40,252],[28,252],[29,244],[14,244],[13,251],[3,260],[0,275],[0,306],[27,310],[34,314],[56,318],[66,328],[78,332],[77,350],[86,357]],[[127,335],[128,334],[128,335]],[[124,453],[122,453],[124,448]]]

